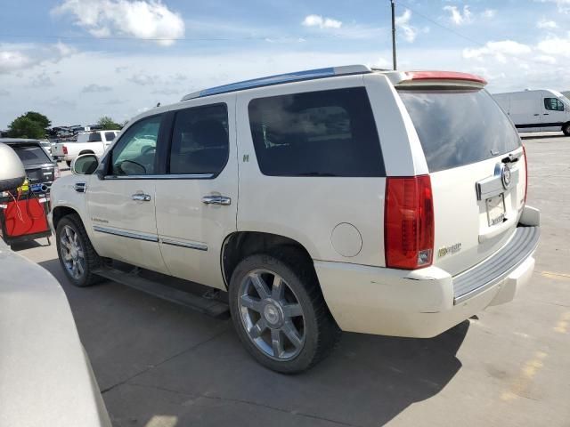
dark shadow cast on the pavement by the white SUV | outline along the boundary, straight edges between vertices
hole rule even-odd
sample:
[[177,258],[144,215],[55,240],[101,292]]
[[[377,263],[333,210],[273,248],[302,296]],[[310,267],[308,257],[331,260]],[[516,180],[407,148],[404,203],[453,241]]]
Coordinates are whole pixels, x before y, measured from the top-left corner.
[[[343,334],[300,375],[251,359],[230,320],[208,318],[126,286],[60,279],[114,425],[383,425],[442,391],[460,370],[464,321],[432,339]],[[154,424],[151,424],[154,425]],[[159,425],[159,424],[157,424]]]

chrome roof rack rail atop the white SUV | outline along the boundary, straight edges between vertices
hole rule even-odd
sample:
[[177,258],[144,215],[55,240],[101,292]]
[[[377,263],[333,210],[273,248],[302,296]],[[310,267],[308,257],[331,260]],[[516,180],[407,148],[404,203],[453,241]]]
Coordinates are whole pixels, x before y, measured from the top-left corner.
[[229,93],[236,91],[243,91],[245,89],[252,89],[254,87],[282,85],[284,83],[300,82],[303,80],[311,80],[314,78],[347,76],[351,74],[366,74],[371,73],[371,68],[365,65],[346,65],[342,67],[330,68],[316,68],[308,69],[305,71],[297,71],[294,73],[278,74],[276,76],[254,78],[252,80],[245,80],[243,82],[232,83],[230,85],[222,85],[204,89],[202,91],[190,93],[183,97],[181,101],[188,101],[194,98],[202,98],[210,95],[217,95],[219,93]]

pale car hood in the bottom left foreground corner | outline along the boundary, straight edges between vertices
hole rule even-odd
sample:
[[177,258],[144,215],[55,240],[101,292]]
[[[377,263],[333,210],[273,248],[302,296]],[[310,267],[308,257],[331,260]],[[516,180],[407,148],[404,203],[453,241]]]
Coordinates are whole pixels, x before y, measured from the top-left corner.
[[0,240],[0,427],[110,427],[63,289]]

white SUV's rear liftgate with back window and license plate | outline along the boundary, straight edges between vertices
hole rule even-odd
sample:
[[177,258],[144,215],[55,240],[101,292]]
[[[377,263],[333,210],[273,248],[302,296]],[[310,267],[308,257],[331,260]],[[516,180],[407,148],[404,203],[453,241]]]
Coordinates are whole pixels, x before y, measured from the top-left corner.
[[509,118],[484,89],[398,92],[428,163],[434,264],[458,274],[500,249],[516,229],[525,204],[524,151]]

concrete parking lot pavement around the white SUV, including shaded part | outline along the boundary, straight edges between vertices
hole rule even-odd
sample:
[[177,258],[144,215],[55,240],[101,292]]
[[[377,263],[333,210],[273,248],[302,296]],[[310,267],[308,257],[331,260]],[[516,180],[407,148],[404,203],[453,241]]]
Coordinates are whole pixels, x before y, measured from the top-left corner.
[[524,142],[542,240],[516,300],[428,340],[344,334],[302,375],[257,365],[230,320],[73,287],[45,240],[15,249],[60,280],[116,426],[570,426],[570,138]]

